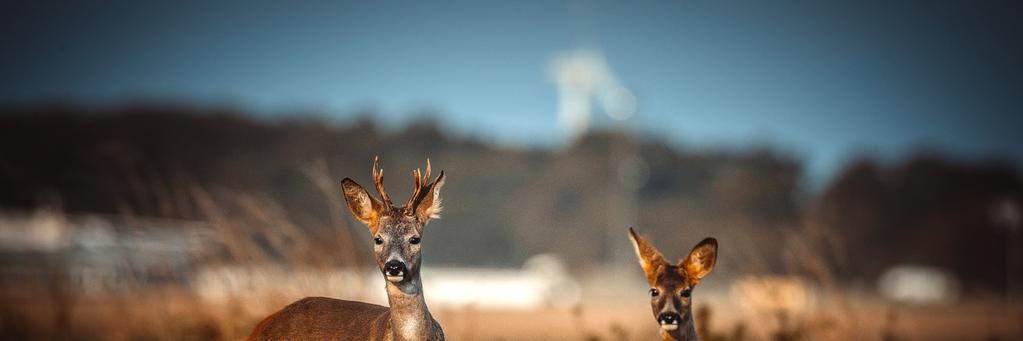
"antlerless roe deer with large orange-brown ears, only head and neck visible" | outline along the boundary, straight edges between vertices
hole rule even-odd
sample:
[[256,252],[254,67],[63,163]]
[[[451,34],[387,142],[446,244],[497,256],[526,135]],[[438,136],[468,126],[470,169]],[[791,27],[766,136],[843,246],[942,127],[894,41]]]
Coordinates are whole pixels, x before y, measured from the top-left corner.
[[717,260],[717,240],[697,244],[685,259],[669,263],[647,238],[629,227],[629,239],[650,283],[650,305],[663,340],[699,340],[693,323],[693,288]]

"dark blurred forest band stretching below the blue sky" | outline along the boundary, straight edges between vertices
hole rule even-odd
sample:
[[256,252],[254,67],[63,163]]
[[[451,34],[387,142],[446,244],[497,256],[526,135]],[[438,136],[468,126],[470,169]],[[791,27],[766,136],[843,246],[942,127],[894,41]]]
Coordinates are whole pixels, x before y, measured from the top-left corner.
[[[447,172],[444,215],[426,237],[457,247],[429,249],[436,264],[518,266],[540,253],[578,269],[631,264],[631,250],[621,249],[625,228],[635,225],[679,246],[672,254],[705,236],[726,241],[725,276],[729,268],[812,272],[799,260],[812,254],[853,286],[915,263],[951,270],[968,293],[999,293],[1008,242],[994,211],[1023,202],[1013,164],[938,153],[860,158],[811,193],[802,187],[800,160],[770,145],[690,148],[610,129],[563,148],[529,150],[451,136],[430,119],[386,129],[368,118],[129,105],[0,109],[0,207],[208,220],[196,190],[218,203],[249,196],[313,236],[302,248],[315,261],[366,262],[368,243],[342,245],[332,236],[369,235],[324,190],[344,177],[371,184],[374,156],[396,200],[426,158]],[[324,187],[310,176],[317,172],[335,182]],[[346,245],[354,250],[339,250]]]

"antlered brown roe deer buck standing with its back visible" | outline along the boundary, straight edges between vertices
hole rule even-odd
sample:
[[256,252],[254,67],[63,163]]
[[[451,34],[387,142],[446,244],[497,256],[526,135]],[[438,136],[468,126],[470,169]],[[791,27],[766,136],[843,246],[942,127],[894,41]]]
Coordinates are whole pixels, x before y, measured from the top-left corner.
[[307,297],[264,318],[249,340],[444,340],[444,331],[427,308],[419,276],[422,227],[440,213],[444,172],[431,183],[428,159],[426,174],[416,169],[412,178],[412,196],[401,207],[393,206],[384,191],[384,171],[376,159],[373,182],[380,200],[350,178],[341,181],[348,208],[373,236],[390,308]]

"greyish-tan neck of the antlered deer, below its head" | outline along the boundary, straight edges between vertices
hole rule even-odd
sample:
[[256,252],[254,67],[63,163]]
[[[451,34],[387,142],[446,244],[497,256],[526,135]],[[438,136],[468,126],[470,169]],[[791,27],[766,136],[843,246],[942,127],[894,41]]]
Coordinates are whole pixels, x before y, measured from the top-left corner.
[[433,335],[433,315],[422,297],[418,273],[401,284],[387,283],[391,305],[391,333],[395,340],[429,340]]

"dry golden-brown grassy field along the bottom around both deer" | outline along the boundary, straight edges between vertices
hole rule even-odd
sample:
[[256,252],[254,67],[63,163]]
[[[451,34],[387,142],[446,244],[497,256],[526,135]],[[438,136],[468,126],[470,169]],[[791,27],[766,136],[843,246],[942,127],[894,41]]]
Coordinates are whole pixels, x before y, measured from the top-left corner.
[[[293,297],[238,295],[210,304],[181,289],[73,296],[58,289],[4,293],[0,336],[8,340],[238,340]],[[744,309],[720,294],[698,297],[705,340],[1020,340],[1023,309],[996,300],[893,307],[877,299],[818,300],[780,314]],[[428,298],[429,300],[429,298]],[[837,308],[844,306],[844,308]],[[571,308],[528,311],[432,307],[451,340],[651,340],[647,302],[584,299]]]

